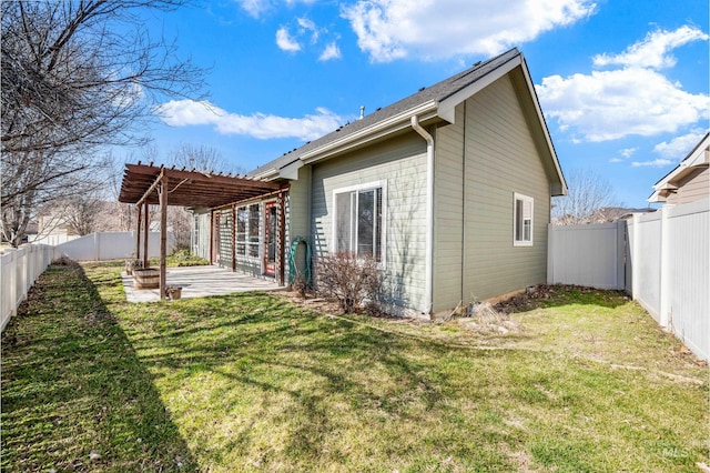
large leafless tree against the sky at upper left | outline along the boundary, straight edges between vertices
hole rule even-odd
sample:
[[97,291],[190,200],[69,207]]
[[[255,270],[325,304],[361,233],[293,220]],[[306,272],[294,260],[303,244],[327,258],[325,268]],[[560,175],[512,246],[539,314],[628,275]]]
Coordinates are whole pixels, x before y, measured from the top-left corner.
[[85,192],[97,150],[136,144],[165,95],[201,71],[153,41],[139,13],[183,0],[6,0],[2,14],[2,234],[17,245],[43,203]]

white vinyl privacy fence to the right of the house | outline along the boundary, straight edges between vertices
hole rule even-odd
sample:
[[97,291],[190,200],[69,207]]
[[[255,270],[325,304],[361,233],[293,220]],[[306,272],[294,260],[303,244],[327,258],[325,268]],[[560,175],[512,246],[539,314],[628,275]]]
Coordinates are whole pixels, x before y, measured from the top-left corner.
[[626,290],[698,356],[710,358],[710,202],[632,220],[549,227],[548,283]]

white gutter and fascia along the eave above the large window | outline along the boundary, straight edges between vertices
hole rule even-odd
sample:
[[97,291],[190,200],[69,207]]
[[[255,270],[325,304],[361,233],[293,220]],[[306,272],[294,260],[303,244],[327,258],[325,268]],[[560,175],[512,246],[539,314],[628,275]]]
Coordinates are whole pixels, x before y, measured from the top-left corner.
[[356,131],[355,133],[348,134],[321,148],[308,151],[307,153],[302,154],[300,159],[304,164],[308,164],[329,155],[346,151],[351,148],[358,147],[368,141],[376,140],[395,131],[404,130],[405,128],[410,127],[412,115],[418,115],[424,120],[434,118],[436,117],[436,103],[434,101],[429,101],[413,109],[406,110],[386,120],[379,121],[359,131]]

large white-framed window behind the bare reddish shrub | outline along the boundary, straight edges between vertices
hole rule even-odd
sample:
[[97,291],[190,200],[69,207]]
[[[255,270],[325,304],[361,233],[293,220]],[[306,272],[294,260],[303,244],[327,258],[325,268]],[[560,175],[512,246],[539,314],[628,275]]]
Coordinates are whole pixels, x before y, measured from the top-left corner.
[[335,251],[373,256],[382,262],[385,240],[384,183],[338,189],[334,194]]

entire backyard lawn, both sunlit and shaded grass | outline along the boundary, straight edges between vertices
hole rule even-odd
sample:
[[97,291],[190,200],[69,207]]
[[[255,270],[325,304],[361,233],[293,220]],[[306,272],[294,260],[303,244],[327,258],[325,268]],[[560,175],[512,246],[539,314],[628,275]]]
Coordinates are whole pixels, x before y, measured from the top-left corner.
[[2,338],[3,471],[698,471],[708,369],[621,293],[486,334],[52,265]]

